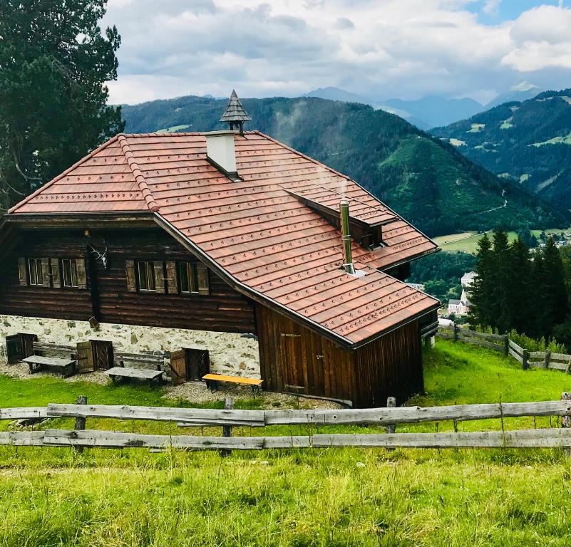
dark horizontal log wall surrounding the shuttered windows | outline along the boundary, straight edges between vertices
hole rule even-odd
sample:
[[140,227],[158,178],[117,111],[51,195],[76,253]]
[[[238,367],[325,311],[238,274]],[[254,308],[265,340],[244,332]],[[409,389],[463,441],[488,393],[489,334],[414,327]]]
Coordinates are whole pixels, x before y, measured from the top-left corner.
[[[88,267],[88,291],[19,285],[19,256],[83,256],[86,238],[81,231],[22,232],[0,264],[0,313],[68,318],[87,321],[93,311],[98,321],[233,333],[255,333],[252,303],[208,271],[209,295],[158,294],[128,291],[127,260],[192,261],[195,257],[163,230],[91,231],[93,244],[108,246],[108,268]],[[89,255],[89,254],[88,254]],[[93,303],[90,293],[93,291]]]

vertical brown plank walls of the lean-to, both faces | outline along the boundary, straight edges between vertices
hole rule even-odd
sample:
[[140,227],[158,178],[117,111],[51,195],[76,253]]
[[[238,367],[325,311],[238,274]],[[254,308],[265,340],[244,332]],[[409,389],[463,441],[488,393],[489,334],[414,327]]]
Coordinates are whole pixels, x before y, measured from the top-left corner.
[[384,407],[423,391],[421,339],[410,323],[358,350],[349,351],[299,323],[256,307],[259,359],[267,390]]

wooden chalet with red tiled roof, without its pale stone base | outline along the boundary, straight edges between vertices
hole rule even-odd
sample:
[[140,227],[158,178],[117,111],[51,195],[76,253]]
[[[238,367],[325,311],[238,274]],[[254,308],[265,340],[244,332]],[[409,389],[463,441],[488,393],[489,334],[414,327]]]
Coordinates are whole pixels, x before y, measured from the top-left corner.
[[237,130],[117,135],[13,207],[0,315],[91,320],[93,338],[98,324],[247,336],[265,390],[356,407],[421,392],[439,303],[403,280],[436,244],[232,119]]

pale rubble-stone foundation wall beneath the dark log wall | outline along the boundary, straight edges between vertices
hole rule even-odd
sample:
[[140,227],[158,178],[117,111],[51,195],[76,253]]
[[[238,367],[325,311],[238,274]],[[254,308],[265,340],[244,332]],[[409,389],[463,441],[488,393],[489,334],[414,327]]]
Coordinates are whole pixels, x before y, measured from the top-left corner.
[[176,351],[182,348],[208,350],[210,372],[259,378],[259,350],[255,338],[209,330],[144,327],[101,323],[98,330],[87,321],[65,321],[0,315],[0,360],[6,363],[6,335],[31,333],[38,341],[75,345],[87,340],[108,340],[115,350]]

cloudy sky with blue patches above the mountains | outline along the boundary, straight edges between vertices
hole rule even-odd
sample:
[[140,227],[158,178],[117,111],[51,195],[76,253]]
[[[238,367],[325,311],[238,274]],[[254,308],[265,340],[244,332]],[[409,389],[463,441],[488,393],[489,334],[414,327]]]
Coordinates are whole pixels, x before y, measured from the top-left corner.
[[103,24],[122,37],[113,103],[571,87],[571,0],[108,0]]

